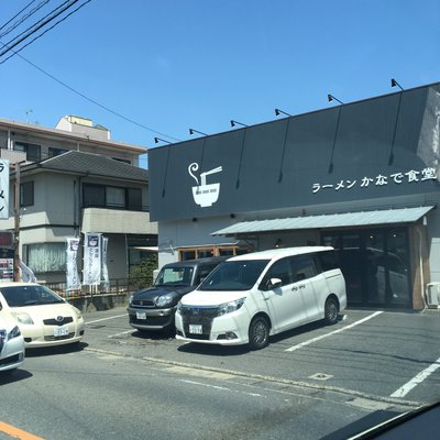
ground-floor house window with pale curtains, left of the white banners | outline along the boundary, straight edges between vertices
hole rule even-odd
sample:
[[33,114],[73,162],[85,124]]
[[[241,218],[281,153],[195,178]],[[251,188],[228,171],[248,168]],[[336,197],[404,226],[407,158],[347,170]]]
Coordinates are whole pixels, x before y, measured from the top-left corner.
[[66,270],[65,243],[34,243],[23,245],[28,266],[34,273],[63,272]]

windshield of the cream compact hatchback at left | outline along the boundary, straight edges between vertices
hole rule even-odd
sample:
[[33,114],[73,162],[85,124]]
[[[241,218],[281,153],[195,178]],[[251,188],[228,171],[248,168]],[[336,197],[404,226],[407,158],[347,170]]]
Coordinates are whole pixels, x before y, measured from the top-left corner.
[[64,302],[54,292],[44,286],[0,287],[9,307],[44,306]]

